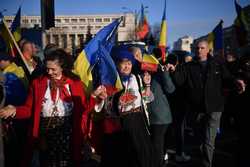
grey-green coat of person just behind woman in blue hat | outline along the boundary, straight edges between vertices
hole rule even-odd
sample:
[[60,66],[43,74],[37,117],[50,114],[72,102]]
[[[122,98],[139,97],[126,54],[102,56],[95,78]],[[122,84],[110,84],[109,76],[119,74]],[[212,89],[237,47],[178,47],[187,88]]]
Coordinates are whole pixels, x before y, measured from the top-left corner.
[[169,124],[172,115],[167,95],[175,91],[175,86],[170,78],[169,72],[159,71],[152,75],[151,90],[154,101],[149,104],[150,124]]

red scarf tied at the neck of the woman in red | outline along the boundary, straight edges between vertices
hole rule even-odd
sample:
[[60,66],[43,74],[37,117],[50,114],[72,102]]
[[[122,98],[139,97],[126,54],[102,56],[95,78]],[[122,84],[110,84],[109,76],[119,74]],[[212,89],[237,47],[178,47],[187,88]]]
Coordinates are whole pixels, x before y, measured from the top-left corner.
[[62,76],[59,80],[50,80],[50,93],[51,93],[51,99],[53,102],[56,103],[56,92],[57,89],[59,89],[59,98],[64,102],[72,102],[72,97],[69,94],[68,89],[66,88],[66,85],[69,84],[69,79]]

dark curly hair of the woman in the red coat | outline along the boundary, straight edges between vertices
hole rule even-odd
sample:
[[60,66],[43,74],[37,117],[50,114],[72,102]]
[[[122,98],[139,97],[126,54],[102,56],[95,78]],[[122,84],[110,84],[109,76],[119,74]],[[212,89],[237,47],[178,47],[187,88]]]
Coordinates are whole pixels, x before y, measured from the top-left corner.
[[44,64],[47,61],[55,61],[57,60],[61,68],[63,69],[63,75],[69,77],[71,79],[79,79],[77,75],[72,72],[73,69],[73,61],[70,55],[67,54],[63,49],[55,49],[49,52],[44,58]]

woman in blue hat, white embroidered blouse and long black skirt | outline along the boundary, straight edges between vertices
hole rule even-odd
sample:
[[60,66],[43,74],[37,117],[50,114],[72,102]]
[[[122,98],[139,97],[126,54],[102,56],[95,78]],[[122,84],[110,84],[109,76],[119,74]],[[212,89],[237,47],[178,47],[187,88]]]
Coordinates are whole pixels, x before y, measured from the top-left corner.
[[[115,59],[124,90],[114,95],[112,109],[107,110],[107,114],[120,118],[120,131],[116,129],[115,136],[109,135],[110,138],[104,140],[102,165],[150,167],[152,149],[144,110],[146,103],[153,100],[151,76],[145,73],[140,77],[131,73],[135,59],[126,50],[116,53]],[[116,164],[118,161],[120,163]]]

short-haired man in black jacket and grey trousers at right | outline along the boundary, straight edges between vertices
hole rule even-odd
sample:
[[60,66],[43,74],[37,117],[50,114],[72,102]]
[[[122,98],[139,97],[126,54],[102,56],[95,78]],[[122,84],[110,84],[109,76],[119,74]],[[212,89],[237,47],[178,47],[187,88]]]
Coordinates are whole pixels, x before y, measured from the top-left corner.
[[[177,85],[184,85],[187,103],[195,115],[195,132],[200,140],[201,166],[211,167],[217,129],[221,112],[224,110],[222,88],[225,84],[237,85],[244,91],[242,80],[235,80],[226,67],[209,55],[207,41],[197,45],[196,58],[184,65],[168,64],[167,70],[174,71]],[[229,86],[229,85],[228,85]]]

